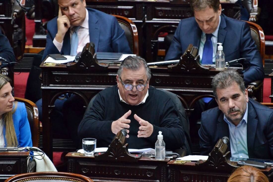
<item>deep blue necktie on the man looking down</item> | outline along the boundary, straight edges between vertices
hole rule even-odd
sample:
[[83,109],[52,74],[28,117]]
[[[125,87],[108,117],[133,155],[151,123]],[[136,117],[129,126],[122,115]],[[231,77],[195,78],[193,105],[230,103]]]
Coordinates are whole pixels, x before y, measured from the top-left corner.
[[206,34],[206,42],[204,44],[202,64],[212,64],[213,46],[211,41],[212,34]]

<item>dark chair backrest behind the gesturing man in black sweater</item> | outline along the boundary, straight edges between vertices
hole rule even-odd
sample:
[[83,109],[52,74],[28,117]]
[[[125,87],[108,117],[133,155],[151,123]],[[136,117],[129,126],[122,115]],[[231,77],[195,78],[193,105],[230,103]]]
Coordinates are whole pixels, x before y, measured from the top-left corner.
[[[182,149],[185,149],[187,152],[187,155],[191,155],[192,154],[192,148],[191,148],[191,137],[189,134],[189,119],[188,119],[188,115],[181,103],[181,101],[179,100],[179,98],[177,97],[176,94],[169,92],[167,90],[163,90],[163,89],[159,89],[158,90],[162,90],[163,92],[165,92],[168,96],[170,96],[170,98],[172,99],[172,101],[175,104],[177,113],[179,115],[180,118],[180,124],[182,125],[184,132],[185,132],[185,141],[184,141],[184,145],[181,147]],[[97,95],[95,95],[89,102],[84,115],[86,114],[87,111],[89,111],[91,109],[91,107],[93,106],[93,102],[95,100]]]

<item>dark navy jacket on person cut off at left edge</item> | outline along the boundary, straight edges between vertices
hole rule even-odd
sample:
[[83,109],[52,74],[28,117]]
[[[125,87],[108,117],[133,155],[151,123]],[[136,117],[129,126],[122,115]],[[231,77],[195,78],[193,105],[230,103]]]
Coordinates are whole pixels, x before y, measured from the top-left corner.
[[[8,38],[2,34],[0,29],[0,57],[7,59],[8,62],[15,62],[15,56],[13,52],[13,48],[10,46],[10,42]],[[7,62],[2,61],[1,68],[7,67]]]

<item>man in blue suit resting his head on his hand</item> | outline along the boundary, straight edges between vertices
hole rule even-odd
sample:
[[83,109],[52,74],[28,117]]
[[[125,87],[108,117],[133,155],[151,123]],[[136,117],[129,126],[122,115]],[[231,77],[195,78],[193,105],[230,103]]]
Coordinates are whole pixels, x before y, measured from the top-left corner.
[[86,8],[85,0],[58,0],[59,14],[48,22],[48,54],[76,55],[88,42],[96,52],[132,54],[123,29],[114,16]]

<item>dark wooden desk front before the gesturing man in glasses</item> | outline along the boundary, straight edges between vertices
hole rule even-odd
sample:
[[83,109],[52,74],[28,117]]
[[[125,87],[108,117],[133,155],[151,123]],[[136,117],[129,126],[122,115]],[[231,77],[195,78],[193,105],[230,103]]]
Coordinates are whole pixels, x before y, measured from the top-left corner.
[[94,157],[66,155],[67,172],[82,174],[93,181],[167,181],[167,162],[142,157],[137,162],[108,162]]

